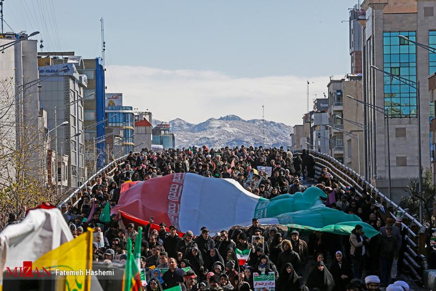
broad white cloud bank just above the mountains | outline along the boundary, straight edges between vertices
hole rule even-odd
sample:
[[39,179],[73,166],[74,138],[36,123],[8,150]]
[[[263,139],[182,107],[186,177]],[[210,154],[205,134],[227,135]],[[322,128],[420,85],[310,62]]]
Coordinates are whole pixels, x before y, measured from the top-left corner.
[[[115,80],[115,81],[114,81]],[[112,65],[106,71],[106,92],[123,93],[123,104],[150,110],[153,118],[181,118],[191,123],[235,114],[243,119],[262,116],[288,125],[302,123],[307,112],[307,78],[267,76],[234,78],[217,71],[163,70]],[[328,77],[310,78],[312,100],[327,92]]]

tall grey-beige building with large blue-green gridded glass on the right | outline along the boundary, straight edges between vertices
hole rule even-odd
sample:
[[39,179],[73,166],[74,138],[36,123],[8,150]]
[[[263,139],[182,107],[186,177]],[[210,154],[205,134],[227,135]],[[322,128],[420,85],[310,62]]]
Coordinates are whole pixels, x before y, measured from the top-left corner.
[[[434,54],[399,35],[425,45],[435,44],[436,2],[365,0],[361,7],[366,11],[366,20],[359,20],[363,27],[363,101],[386,112],[364,107],[364,123],[368,125],[365,130],[367,167],[377,188],[389,194],[390,184],[392,197],[397,200],[404,195],[409,179],[418,177],[419,146],[422,167],[430,168],[431,100],[429,92],[422,88],[428,88],[427,77],[436,68]],[[420,114],[416,85],[404,84],[371,66],[411,82],[419,81]]]

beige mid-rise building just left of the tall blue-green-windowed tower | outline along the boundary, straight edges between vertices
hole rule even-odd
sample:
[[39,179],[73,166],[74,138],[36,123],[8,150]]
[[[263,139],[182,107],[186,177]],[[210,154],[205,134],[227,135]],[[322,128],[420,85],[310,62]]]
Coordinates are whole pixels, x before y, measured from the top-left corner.
[[[327,84],[329,138],[331,155],[364,175],[364,139],[362,104],[362,74],[348,74]],[[367,176],[365,176],[367,177]]]

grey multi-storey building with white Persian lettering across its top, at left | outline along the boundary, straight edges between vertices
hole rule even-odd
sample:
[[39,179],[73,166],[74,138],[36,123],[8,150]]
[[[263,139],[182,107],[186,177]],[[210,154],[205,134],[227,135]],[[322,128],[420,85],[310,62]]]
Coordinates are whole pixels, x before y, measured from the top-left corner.
[[[39,64],[42,65],[39,67],[40,105],[47,111],[49,129],[54,129],[65,121],[68,122],[65,126],[60,126],[51,132],[50,147],[59,157],[58,180],[66,180],[67,187],[77,187],[85,181],[83,92],[87,87],[87,78],[77,71],[77,67],[83,68],[80,56],[55,59],[63,61],[56,65],[52,65],[51,60],[51,58],[39,59]],[[64,67],[66,67],[64,72],[50,76]],[[67,159],[66,166],[62,164],[64,156]],[[65,173],[63,169],[66,169]]]

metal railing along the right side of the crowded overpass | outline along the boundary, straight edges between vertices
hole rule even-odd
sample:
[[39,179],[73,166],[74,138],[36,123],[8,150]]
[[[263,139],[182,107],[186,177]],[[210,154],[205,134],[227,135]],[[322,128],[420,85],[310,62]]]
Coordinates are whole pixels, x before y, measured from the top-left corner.
[[[297,150],[295,152],[301,151]],[[385,210],[388,211],[388,215],[393,219],[395,219],[395,213],[397,211],[403,213],[402,226],[406,229],[406,246],[403,263],[407,268],[409,275],[416,281],[422,282],[423,271],[427,268],[427,259],[424,256],[426,237],[425,227],[422,226],[415,217],[390,200],[352,168],[342,164],[327,154],[315,151],[310,151],[310,154],[315,158],[315,172],[318,175],[321,174],[322,168],[326,167],[329,173],[332,174],[333,177],[342,184],[342,186],[354,187],[360,196],[362,196],[363,193],[371,194],[373,198],[383,205]]]

